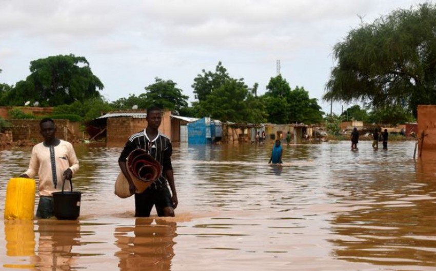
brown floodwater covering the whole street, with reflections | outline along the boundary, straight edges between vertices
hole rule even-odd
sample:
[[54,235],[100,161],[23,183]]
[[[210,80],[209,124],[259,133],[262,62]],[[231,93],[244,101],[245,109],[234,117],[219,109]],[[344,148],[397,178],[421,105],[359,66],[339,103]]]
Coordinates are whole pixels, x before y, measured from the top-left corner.
[[[284,144],[281,168],[272,144],[174,146],[174,218],[134,218],[114,195],[121,147],[75,145],[79,220],[2,221],[0,269],[434,270],[436,158],[371,144]],[[2,220],[30,152],[0,150]]]

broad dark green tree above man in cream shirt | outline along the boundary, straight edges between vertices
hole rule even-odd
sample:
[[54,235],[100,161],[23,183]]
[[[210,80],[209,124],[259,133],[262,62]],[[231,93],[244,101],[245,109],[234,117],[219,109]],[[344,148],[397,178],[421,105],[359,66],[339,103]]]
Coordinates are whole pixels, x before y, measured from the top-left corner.
[[30,62],[31,74],[19,81],[7,97],[11,105],[38,101],[42,106],[71,104],[100,97],[103,83],[85,57],[57,55]]

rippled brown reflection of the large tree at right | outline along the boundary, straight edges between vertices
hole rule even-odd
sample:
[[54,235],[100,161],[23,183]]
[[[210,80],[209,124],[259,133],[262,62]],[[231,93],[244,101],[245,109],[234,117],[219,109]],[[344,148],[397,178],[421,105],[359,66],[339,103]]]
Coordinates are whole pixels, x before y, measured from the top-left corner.
[[334,255],[351,262],[431,269],[436,212],[428,202],[436,199],[436,155],[413,164],[397,151],[393,147],[376,154],[381,159],[336,172],[346,182],[332,185],[340,191],[332,194],[339,204],[331,220]]

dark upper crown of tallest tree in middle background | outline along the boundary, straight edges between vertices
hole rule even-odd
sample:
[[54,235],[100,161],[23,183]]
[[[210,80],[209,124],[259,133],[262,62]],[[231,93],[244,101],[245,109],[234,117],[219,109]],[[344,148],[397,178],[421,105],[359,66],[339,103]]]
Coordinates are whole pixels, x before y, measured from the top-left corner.
[[[206,72],[202,70],[202,74],[194,78],[194,83],[191,85],[194,89],[195,99],[205,101],[213,89],[217,89],[230,79],[227,69],[222,65],[221,61],[215,67],[215,72]],[[242,79],[239,79],[242,81]]]

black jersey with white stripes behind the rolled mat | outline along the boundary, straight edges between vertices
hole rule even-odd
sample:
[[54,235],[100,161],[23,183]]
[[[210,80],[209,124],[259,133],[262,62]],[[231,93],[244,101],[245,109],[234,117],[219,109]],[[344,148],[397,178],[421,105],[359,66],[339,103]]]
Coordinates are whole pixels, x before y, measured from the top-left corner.
[[129,140],[126,142],[123,151],[121,152],[118,162],[126,162],[127,157],[133,150],[141,148],[146,150],[154,159],[157,160],[162,166],[162,174],[159,176],[155,182],[150,186],[150,188],[158,188],[165,186],[167,184],[167,179],[165,176],[165,171],[172,169],[171,165],[171,154],[172,145],[171,140],[162,133],[158,133],[157,137],[152,141],[148,138],[145,129],[143,131],[132,134]]

